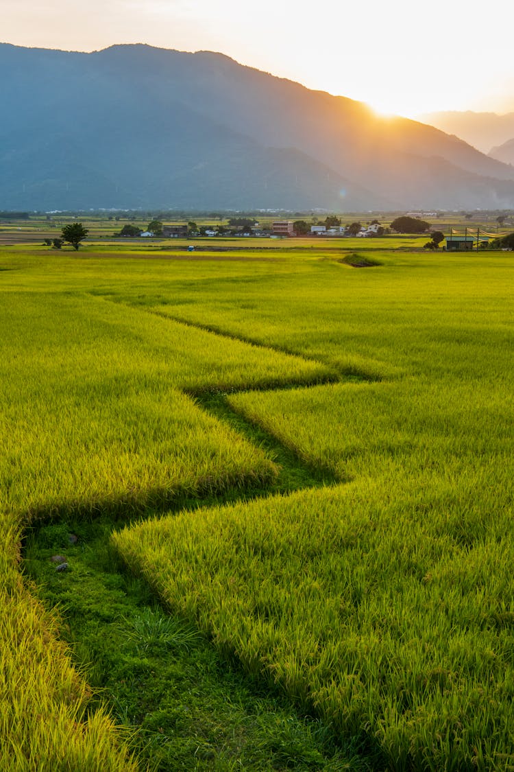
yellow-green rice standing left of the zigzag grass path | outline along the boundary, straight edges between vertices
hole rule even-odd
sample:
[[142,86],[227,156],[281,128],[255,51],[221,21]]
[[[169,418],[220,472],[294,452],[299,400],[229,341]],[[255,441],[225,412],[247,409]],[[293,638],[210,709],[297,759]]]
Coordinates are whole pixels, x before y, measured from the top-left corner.
[[88,713],[59,621],[18,574],[23,529],[263,486],[274,463],[184,392],[311,383],[331,371],[107,303],[94,292],[113,279],[87,259],[2,253],[0,267],[0,767],[132,770],[106,711]]

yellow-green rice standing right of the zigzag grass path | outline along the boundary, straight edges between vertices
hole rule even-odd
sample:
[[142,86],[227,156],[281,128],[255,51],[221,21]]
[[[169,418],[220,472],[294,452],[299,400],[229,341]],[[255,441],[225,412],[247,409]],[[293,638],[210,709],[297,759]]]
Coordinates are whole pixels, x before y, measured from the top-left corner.
[[383,263],[291,265],[232,303],[236,279],[204,286],[203,303],[145,299],[381,380],[228,397],[348,484],[183,513],[115,542],[170,608],[358,737],[377,769],[508,770],[514,263]]

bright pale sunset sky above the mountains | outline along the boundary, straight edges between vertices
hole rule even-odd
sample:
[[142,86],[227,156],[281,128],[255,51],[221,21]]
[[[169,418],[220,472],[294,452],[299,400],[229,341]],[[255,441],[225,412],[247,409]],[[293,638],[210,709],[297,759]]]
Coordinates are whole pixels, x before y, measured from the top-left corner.
[[[0,40],[92,51],[145,42],[226,53],[313,89],[414,117],[514,110],[506,0],[1,0]],[[478,5],[478,4],[477,4]],[[476,5],[475,5],[476,7]],[[2,73],[0,73],[1,76]]]

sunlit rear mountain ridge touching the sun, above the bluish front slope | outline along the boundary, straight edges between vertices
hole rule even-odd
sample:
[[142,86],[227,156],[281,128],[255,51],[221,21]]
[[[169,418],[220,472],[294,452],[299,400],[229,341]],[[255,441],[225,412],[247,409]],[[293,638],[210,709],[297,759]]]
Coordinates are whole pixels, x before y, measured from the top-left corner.
[[[378,157],[381,167],[394,173],[398,153],[410,154],[414,167],[412,156],[442,157],[476,174],[514,178],[512,169],[434,127],[406,118],[378,117],[363,103],[308,90],[222,54],[113,46],[96,56],[112,73],[130,70],[130,76],[148,89],[164,89],[169,98],[179,98],[220,123],[230,120],[233,129],[256,141],[274,147],[294,145],[367,187],[375,188],[370,157]],[[363,168],[369,170],[365,177]],[[388,195],[386,182],[381,193]]]

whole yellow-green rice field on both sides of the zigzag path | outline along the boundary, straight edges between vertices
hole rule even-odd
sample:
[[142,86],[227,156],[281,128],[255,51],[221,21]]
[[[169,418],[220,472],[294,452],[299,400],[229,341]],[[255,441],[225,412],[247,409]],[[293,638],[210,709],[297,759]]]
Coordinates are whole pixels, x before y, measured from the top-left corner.
[[[374,258],[0,251],[2,768],[136,768],[18,574],[26,527],[109,511],[153,513],[131,571],[369,769],[514,767],[512,259]],[[210,393],[339,482],[267,497]]]

